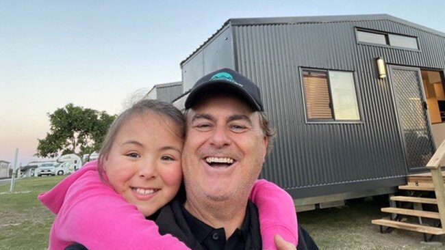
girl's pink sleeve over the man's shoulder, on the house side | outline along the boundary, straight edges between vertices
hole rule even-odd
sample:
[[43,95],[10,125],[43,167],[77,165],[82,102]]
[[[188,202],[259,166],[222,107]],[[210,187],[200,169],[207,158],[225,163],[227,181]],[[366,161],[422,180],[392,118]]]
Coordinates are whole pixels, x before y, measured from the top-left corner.
[[272,182],[257,180],[249,198],[258,208],[263,249],[277,249],[275,234],[296,245],[298,229],[292,197]]

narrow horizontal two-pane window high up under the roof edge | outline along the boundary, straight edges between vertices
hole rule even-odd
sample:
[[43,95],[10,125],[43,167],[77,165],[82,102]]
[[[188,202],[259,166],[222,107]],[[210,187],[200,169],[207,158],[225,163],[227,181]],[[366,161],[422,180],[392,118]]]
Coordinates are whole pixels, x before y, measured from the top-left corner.
[[393,46],[397,48],[419,49],[417,38],[378,31],[357,29],[357,41],[368,44]]

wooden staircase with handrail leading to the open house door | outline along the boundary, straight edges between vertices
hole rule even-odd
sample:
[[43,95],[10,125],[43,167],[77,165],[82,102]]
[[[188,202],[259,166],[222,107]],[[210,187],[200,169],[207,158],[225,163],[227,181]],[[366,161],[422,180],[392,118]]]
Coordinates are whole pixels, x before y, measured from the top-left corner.
[[[392,228],[410,230],[423,233],[424,240],[429,241],[435,235],[445,234],[445,178],[440,169],[440,163],[445,158],[445,141],[442,142],[431,160],[427,163],[427,168],[431,173],[422,173],[407,177],[407,185],[398,186],[398,189],[405,190],[413,196],[392,196],[390,204],[412,204],[409,208],[381,208],[382,212],[388,212],[391,219],[375,219],[372,224],[380,226],[380,232],[383,233],[383,226],[386,231]],[[431,197],[417,197],[419,194],[428,194]],[[403,203],[402,203],[403,202]],[[437,212],[422,210],[422,204],[437,207]],[[411,209],[413,208],[413,209]],[[418,217],[418,223],[401,221],[402,216]],[[428,218],[433,225],[423,223],[424,218]],[[431,235],[429,237],[428,235]]]

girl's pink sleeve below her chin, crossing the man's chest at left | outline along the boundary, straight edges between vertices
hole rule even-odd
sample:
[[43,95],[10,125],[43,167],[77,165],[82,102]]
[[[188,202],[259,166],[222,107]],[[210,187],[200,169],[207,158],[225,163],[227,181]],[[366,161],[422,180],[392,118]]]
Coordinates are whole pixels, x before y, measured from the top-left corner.
[[170,234],[161,236],[97,171],[90,171],[68,189],[51,230],[62,242],[79,242],[88,249],[188,249]]

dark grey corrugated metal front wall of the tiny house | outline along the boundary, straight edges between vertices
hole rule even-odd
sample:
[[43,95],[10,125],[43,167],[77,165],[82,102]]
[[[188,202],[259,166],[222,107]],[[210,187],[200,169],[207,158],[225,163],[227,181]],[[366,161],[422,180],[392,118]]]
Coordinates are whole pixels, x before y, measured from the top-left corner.
[[[416,36],[420,51],[357,44],[355,27]],[[445,38],[390,20],[233,26],[236,69],[262,89],[278,130],[262,177],[286,189],[407,173],[387,64],[445,67]],[[361,123],[307,124],[300,68],[353,71]],[[322,194],[320,194],[322,195]]]

